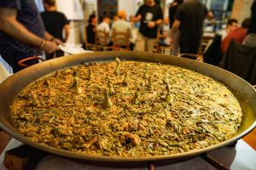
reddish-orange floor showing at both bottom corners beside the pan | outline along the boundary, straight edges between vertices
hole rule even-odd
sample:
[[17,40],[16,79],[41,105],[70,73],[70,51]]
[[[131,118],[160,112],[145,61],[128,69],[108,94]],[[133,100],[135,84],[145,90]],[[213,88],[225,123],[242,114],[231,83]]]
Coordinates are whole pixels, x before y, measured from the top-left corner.
[[[9,134],[4,133],[3,131],[0,132],[0,154],[2,153],[5,146],[9,143],[10,139],[11,137],[9,136]],[[247,134],[247,136],[245,136],[243,140],[247,144],[252,146],[254,150],[256,150],[256,128],[254,128],[251,133]]]

